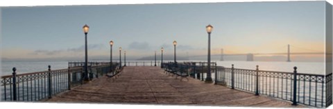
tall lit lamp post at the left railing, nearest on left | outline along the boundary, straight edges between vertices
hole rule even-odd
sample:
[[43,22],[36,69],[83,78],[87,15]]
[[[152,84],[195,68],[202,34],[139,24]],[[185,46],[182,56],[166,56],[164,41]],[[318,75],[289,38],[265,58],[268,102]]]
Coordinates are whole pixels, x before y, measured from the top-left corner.
[[89,26],[87,26],[87,24],[85,24],[85,26],[83,26],[83,32],[85,32],[85,81],[89,81],[88,78],[88,51],[87,51],[87,34],[89,32]]

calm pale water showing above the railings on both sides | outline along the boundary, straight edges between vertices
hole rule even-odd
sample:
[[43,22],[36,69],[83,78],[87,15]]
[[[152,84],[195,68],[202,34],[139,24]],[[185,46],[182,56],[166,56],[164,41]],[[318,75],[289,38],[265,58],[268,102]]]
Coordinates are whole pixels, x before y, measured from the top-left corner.
[[[324,62],[287,62],[287,61],[213,61],[218,66],[224,66],[225,68],[231,68],[231,64],[234,64],[234,68],[252,69],[255,70],[255,66],[259,66],[259,70],[272,70],[282,72],[293,72],[293,67],[297,66],[298,72],[319,74],[323,75],[325,71]],[[2,61],[1,62],[1,75],[11,75],[12,68],[17,68],[17,73],[25,72],[37,72],[47,70],[47,66],[51,65],[52,70],[62,69],[68,67],[68,61]],[[146,61],[146,66],[150,66],[151,61]],[[131,63],[130,66],[133,66]]]

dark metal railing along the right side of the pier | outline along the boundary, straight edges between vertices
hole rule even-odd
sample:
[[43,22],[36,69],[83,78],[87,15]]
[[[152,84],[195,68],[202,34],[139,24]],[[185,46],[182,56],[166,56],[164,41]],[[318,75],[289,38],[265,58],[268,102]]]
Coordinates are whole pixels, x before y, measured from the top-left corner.
[[[174,63],[163,63],[163,66],[174,66]],[[205,81],[207,62],[178,63],[186,66],[190,77]],[[168,68],[164,68],[168,69]],[[169,67],[170,69],[170,67]],[[332,104],[332,73],[329,75],[314,75],[297,72],[278,72],[234,68],[224,68],[211,63],[212,79],[215,84],[227,86],[236,90],[253,92],[254,95],[264,95],[291,101],[306,106],[324,108]]]

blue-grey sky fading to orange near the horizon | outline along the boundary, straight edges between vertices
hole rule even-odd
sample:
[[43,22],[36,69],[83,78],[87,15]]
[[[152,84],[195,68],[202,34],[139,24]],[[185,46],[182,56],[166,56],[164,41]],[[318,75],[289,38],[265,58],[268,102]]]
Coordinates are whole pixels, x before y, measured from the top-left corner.
[[[104,6],[1,8],[1,58],[84,57],[87,24],[89,57],[108,57],[114,41],[127,57],[207,54],[324,52],[325,1],[252,3],[176,3]],[[323,57],[323,56],[306,56]]]

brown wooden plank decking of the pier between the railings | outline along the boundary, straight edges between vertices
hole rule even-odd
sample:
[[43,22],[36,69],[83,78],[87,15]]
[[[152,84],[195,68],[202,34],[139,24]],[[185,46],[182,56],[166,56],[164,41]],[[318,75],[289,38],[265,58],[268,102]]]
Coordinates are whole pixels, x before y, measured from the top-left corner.
[[[203,106],[295,107],[290,102],[232,90],[187,77],[175,79],[160,67],[127,66],[115,81],[100,77],[46,100],[62,103],[196,104]],[[303,106],[296,106],[303,107]]]

